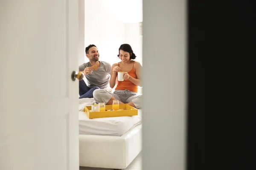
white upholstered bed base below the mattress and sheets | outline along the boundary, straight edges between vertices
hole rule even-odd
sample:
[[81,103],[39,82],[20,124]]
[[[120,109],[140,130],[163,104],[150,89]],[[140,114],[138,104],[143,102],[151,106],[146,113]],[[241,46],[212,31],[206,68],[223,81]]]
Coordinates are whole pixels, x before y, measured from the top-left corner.
[[142,125],[122,136],[79,135],[80,166],[125,169],[142,150]]

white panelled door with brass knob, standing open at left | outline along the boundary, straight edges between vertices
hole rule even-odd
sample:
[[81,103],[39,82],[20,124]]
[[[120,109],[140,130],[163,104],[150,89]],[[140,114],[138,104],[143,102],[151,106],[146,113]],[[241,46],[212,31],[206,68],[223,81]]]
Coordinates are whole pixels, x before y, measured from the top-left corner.
[[78,0],[0,2],[0,170],[78,170]]

